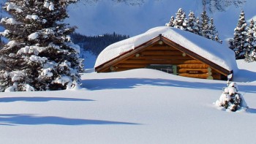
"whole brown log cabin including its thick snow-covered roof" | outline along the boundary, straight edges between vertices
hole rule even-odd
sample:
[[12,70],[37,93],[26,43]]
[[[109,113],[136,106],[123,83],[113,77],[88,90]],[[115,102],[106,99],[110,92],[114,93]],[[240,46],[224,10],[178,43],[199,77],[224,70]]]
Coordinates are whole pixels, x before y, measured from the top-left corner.
[[173,75],[227,80],[237,69],[235,53],[211,39],[161,26],[108,46],[99,54],[96,72],[158,69]]

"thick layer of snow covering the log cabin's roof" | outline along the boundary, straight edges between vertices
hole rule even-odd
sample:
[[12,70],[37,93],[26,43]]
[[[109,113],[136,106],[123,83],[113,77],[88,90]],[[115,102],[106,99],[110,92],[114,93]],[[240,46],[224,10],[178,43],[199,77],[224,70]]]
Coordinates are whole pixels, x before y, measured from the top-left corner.
[[237,69],[235,53],[233,50],[230,50],[230,48],[227,48],[225,45],[221,45],[218,42],[214,42],[211,39],[206,39],[205,37],[200,37],[188,31],[182,31],[181,29],[171,28],[169,26],[156,27],[138,36],[130,37],[129,39],[124,39],[113,45],[109,45],[99,53],[94,67],[99,67],[129,50],[135,49],[139,45],[158,37],[159,34],[162,34],[163,37],[197,53],[197,55],[203,56],[203,58],[212,61],[220,67],[229,71],[236,71]]

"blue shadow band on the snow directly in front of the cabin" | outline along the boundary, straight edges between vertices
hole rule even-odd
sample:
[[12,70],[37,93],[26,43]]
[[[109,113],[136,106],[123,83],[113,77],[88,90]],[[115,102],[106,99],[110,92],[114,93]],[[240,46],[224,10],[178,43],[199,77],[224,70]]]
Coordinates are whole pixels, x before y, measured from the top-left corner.
[[[148,79],[148,78],[108,78],[83,80],[83,87],[89,90],[114,89],[114,88],[135,88],[138,86],[172,86],[179,88],[205,88],[222,90],[225,83],[202,83],[188,82],[181,80]],[[239,86],[240,91],[256,93],[256,86]]]

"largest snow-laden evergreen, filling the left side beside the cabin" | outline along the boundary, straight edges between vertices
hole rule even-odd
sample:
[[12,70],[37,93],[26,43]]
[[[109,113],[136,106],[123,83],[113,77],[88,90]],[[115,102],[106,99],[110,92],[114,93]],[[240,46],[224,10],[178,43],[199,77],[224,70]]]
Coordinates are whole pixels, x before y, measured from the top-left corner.
[[1,36],[10,39],[0,50],[0,91],[45,91],[80,85],[82,69],[75,28],[61,23],[67,5],[78,0],[9,0]]

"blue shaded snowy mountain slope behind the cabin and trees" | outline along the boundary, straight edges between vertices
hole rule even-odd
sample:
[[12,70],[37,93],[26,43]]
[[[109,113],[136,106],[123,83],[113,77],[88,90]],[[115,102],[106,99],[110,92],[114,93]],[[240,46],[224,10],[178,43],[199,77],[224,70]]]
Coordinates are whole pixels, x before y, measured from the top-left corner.
[[[246,0],[241,7],[227,7],[226,12],[208,13],[214,18],[220,38],[233,37],[238,16],[244,10],[246,19],[253,18],[255,14],[255,0]],[[201,0],[145,0],[143,4],[116,3],[115,1],[100,0],[96,3],[84,4],[80,1],[69,7],[70,18],[67,22],[78,26],[78,32],[87,35],[112,33],[129,34],[135,36],[156,26],[165,26],[171,15],[175,15],[178,8],[185,12],[195,12],[200,16],[202,12]]]

